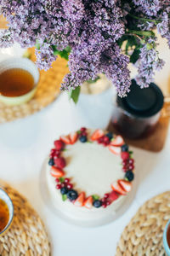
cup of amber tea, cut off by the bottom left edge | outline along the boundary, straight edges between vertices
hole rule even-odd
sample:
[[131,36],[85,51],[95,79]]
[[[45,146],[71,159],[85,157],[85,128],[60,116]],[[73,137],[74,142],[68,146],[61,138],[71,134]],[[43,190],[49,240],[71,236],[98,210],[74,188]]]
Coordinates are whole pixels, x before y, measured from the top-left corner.
[[0,189],[0,236],[8,230],[14,218],[14,206],[8,194]]

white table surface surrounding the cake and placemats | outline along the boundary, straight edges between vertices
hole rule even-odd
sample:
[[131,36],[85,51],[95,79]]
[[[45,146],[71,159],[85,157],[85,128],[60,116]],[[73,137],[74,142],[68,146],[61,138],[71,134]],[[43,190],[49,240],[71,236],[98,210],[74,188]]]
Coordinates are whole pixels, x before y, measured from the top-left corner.
[[[168,56],[164,45],[161,54],[165,58]],[[167,67],[169,62],[164,73],[158,77],[160,82],[167,83]],[[0,178],[25,195],[42,217],[52,243],[53,256],[115,255],[122,230],[138,208],[144,201],[170,188],[169,130],[166,145],[160,153],[133,148],[136,172],[139,173],[138,191],[133,204],[114,223],[98,228],[80,228],[67,224],[44,204],[39,177],[42,162],[54,139],[81,126],[105,127],[111,114],[111,95],[108,99],[106,104],[103,102],[103,111],[100,112],[97,98],[95,102],[88,103],[82,98],[81,104],[75,107],[68,101],[67,95],[62,94],[41,112],[0,125]]]

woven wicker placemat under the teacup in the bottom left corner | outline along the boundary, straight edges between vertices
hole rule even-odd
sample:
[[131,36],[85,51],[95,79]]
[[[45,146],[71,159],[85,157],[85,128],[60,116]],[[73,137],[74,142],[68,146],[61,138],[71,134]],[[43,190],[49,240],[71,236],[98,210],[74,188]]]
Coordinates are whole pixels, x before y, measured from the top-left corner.
[[14,219],[9,230],[0,236],[1,256],[48,256],[50,246],[41,218],[28,201],[8,184],[0,181],[14,204]]

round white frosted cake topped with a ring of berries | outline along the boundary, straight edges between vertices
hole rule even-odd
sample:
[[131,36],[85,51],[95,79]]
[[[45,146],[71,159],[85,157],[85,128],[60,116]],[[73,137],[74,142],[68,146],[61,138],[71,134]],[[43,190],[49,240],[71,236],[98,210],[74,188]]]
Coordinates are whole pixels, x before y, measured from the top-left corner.
[[48,191],[67,218],[100,224],[126,201],[133,170],[133,152],[121,136],[82,127],[54,141]]

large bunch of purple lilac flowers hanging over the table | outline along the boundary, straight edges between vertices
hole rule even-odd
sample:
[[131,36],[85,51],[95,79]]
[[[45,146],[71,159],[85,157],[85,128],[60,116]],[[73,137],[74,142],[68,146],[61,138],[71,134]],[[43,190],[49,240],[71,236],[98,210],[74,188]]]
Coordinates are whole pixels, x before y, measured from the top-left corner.
[[62,90],[105,73],[118,95],[126,96],[129,62],[138,67],[141,88],[163,67],[155,28],[170,47],[169,0],[0,0],[0,11],[8,20],[0,47],[37,45],[37,67],[45,70],[57,55],[68,59]]

